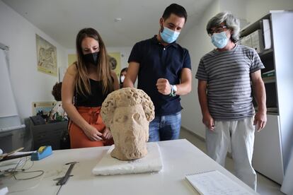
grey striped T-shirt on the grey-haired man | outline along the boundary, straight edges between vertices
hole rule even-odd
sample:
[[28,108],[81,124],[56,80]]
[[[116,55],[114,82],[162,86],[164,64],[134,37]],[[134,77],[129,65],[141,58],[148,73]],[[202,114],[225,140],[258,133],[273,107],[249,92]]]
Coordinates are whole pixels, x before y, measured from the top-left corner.
[[207,81],[207,101],[212,117],[237,120],[253,116],[250,74],[264,68],[255,49],[243,45],[205,54],[195,78]]

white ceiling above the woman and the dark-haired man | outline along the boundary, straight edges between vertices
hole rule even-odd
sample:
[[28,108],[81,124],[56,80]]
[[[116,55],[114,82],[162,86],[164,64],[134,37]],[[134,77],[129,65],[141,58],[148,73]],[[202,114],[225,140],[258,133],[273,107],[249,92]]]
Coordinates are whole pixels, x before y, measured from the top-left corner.
[[[2,0],[56,40],[74,49],[81,28],[98,30],[107,47],[132,47],[159,31],[159,18],[171,0]],[[180,0],[188,20],[180,37],[200,20],[213,0]],[[122,18],[115,22],[115,18]]]

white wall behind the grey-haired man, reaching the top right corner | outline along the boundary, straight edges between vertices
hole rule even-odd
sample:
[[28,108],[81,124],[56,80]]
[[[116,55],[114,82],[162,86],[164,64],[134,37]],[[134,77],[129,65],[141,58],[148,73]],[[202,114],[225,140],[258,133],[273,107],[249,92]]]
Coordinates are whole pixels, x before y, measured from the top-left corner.
[[205,31],[208,20],[221,11],[230,11],[241,19],[241,26],[243,27],[246,22],[253,23],[255,20],[269,13],[270,10],[280,9],[293,10],[293,1],[216,0],[207,8],[200,23],[189,30],[185,37],[181,38],[179,43],[189,50],[193,68],[193,90],[189,95],[181,96],[181,104],[183,106],[182,126],[185,129],[193,131],[198,136],[205,138],[205,126],[202,124],[202,113],[197,98],[197,79],[195,79],[195,73],[200,58],[214,48]]

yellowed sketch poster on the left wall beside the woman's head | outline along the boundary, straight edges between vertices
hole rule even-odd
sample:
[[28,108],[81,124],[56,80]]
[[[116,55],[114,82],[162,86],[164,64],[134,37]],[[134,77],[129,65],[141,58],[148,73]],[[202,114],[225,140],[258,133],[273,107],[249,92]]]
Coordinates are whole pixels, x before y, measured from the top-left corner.
[[38,71],[57,76],[57,49],[39,35],[35,35],[37,45]]

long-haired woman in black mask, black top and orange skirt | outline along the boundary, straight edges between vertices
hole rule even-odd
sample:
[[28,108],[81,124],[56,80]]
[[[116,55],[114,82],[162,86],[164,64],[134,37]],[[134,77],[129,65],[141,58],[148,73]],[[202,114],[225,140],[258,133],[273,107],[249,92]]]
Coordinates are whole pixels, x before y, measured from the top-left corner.
[[100,117],[103,100],[119,88],[110,70],[102,38],[93,28],[76,36],[77,61],[69,66],[62,83],[62,105],[67,112],[71,148],[105,146],[113,143],[110,130]]

